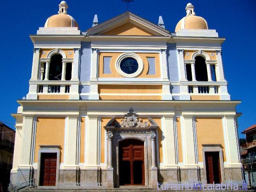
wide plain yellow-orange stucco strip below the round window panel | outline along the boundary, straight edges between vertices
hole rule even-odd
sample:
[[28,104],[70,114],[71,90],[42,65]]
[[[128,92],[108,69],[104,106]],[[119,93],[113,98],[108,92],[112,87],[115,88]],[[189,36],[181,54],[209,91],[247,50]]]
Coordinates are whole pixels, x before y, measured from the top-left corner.
[[[161,95],[128,95],[128,94],[162,94],[160,85],[99,85],[101,100],[161,100]],[[127,94],[127,95],[102,95]]]

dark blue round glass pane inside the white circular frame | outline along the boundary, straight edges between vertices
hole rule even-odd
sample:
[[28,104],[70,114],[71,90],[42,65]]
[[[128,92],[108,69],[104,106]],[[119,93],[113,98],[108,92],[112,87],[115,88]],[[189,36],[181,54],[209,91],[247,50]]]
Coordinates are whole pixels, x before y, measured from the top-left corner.
[[127,57],[121,61],[120,68],[126,74],[133,74],[138,70],[139,65],[136,59]]

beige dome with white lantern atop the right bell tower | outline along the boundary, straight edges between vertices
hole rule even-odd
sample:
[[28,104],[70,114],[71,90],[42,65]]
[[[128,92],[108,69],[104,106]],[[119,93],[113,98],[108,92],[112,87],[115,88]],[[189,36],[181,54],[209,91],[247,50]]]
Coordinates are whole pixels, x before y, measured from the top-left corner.
[[194,6],[188,3],[186,6],[187,15],[183,17],[177,24],[175,32],[180,29],[208,29],[206,20],[202,17],[195,16]]

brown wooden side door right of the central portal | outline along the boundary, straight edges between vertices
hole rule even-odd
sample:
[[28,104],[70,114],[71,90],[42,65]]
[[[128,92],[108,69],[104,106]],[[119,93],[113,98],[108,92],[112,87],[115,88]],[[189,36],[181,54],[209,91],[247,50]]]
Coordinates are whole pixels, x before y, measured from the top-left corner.
[[219,152],[205,152],[207,183],[221,183]]

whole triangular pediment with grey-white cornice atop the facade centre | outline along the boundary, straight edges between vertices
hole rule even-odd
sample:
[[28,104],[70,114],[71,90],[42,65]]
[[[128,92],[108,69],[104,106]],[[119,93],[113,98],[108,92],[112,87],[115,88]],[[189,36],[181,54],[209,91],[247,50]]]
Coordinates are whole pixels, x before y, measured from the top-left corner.
[[87,35],[172,36],[168,30],[128,11],[88,29]]

